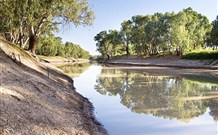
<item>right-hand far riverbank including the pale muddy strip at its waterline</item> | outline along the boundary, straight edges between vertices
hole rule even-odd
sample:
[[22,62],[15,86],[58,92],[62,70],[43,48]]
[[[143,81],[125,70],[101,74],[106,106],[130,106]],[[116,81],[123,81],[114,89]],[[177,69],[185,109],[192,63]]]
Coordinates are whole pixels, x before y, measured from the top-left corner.
[[106,61],[107,64],[116,65],[116,68],[142,69],[148,72],[161,74],[194,74],[211,75],[218,78],[218,60],[185,60],[179,57],[122,57]]

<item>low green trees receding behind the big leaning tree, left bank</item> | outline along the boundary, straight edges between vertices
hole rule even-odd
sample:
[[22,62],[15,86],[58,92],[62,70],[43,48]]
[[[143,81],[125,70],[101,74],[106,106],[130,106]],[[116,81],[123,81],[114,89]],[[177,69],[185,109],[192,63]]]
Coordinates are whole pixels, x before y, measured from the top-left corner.
[[81,48],[79,45],[71,42],[66,42],[64,44],[60,37],[55,37],[52,34],[49,36],[42,36],[38,39],[36,54],[84,59],[90,58],[89,52]]

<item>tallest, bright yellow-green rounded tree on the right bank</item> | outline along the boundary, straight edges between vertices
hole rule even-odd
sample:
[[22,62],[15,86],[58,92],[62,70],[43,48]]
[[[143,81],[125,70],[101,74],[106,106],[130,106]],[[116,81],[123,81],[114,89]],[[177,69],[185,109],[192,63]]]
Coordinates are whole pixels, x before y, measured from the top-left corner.
[[178,55],[206,46],[207,33],[211,31],[209,20],[193,11],[184,9],[176,14],[171,24],[171,42]]

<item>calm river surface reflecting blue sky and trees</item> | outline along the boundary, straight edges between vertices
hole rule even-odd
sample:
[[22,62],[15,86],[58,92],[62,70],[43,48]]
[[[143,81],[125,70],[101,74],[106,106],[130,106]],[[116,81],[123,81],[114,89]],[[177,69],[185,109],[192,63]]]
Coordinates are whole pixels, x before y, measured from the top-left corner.
[[60,67],[110,135],[218,135],[218,80],[143,69]]

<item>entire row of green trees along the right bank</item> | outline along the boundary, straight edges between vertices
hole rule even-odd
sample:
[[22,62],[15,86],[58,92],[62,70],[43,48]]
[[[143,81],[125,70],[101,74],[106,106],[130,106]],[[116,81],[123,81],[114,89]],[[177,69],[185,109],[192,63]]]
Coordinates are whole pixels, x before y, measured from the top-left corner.
[[218,46],[218,18],[212,23],[194,11],[177,14],[136,15],[121,23],[120,31],[104,30],[94,40],[105,58],[119,55],[184,55],[193,50]]

